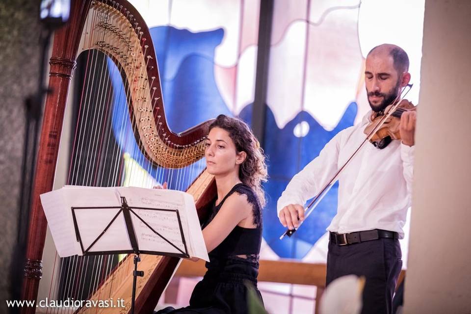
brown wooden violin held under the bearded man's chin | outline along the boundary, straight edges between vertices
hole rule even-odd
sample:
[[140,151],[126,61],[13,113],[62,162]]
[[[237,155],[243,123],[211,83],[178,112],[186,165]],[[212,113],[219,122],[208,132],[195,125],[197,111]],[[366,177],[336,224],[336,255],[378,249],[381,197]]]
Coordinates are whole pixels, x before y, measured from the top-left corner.
[[[379,121],[387,115],[392,109],[393,105],[388,105],[384,110],[379,112],[373,112],[371,114],[371,122],[366,126],[364,133],[370,134],[374,128],[379,124]],[[370,142],[377,148],[383,149],[392,142],[393,139],[401,139],[401,133],[399,127],[401,124],[401,115],[405,111],[415,111],[417,107],[409,102],[407,99],[403,99],[391,115],[386,118],[382,126],[373,134],[370,138]]]

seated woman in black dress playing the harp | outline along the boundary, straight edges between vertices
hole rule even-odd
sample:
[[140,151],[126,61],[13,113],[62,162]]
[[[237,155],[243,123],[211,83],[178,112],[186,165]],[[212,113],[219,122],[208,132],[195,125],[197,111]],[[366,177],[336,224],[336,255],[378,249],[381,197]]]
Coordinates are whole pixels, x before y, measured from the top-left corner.
[[206,139],[206,165],[214,175],[217,198],[203,237],[209,252],[208,268],[190,299],[190,305],[157,314],[248,313],[247,287],[257,290],[259,253],[262,244],[262,181],[266,165],[257,139],[242,121],[219,115]]

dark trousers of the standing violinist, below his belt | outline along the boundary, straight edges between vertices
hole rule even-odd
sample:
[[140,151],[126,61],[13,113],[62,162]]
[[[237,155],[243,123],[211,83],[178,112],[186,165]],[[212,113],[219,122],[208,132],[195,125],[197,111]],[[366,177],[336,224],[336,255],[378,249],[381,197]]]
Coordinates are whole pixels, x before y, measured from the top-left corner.
[[365,276],[362,314],[391,314],[401,268],[397,239],[380,238],[342,246],[329,241],[326,286],[341,276]]

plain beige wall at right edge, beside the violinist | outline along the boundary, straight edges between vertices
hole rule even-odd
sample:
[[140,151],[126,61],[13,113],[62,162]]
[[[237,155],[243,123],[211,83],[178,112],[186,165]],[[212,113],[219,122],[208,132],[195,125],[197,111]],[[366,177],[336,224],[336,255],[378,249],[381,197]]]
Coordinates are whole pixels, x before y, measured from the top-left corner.
[[471,313],[471,1],[426,0],[404,313]]

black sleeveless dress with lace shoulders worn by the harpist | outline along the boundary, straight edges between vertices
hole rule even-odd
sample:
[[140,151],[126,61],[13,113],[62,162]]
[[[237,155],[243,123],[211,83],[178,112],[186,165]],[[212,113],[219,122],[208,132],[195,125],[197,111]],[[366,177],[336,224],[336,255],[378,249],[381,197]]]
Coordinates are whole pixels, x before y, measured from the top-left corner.
[[247,283],[255,288],[262,300],[262,295],[257,289],[262,243],[262,208],[254,191],[242,183],[234,185],[218,206],[214,203],[205,226],[233,193],[247,196],[254,210],[254,222],[257,227],[249,229],[236,226],[221,244],[209,253],[209,262],[206,262],[208,270],[203,280],[194,288],[189,306],[177,310],[165,308],[157,314],[246,314],[248,313]]

